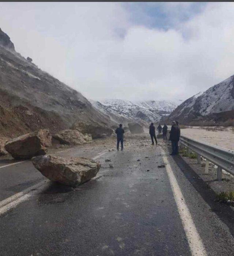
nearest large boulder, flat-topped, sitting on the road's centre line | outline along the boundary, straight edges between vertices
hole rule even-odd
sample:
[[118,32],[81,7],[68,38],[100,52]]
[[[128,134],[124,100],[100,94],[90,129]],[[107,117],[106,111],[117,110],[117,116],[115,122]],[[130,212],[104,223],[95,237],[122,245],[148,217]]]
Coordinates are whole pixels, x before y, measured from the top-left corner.
[[87,158],[63,158],[59,156],[37,156],[32,160],[35,168],[51,181],[76,187],[95,177],[100,163]]

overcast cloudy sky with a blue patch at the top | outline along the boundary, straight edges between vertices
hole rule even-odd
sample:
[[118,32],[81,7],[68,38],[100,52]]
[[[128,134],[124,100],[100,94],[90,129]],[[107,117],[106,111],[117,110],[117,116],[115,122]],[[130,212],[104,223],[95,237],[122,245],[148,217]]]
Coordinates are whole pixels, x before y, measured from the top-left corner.
[[0,3],[0,27],[88,99],[185,100],[234,74],[234,3]]

